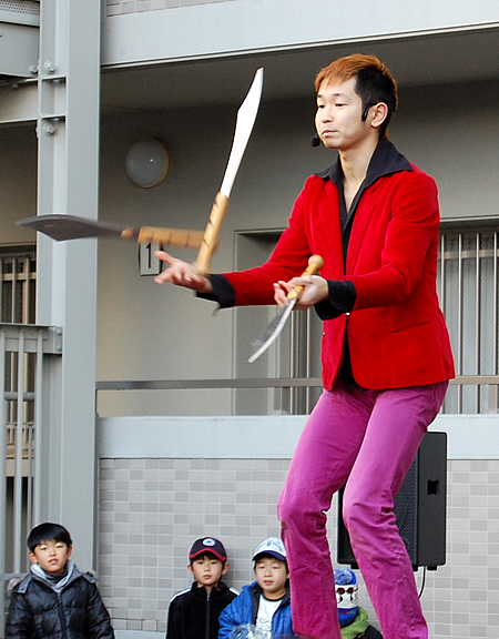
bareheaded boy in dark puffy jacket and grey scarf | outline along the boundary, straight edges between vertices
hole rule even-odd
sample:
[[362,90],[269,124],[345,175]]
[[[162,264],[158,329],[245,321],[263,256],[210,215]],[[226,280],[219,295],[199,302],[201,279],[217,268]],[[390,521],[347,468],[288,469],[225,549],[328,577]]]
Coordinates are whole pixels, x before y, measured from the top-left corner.
[[31,570],[12,591],[6,639],[114,639],[95,579],[70,560],[72,541],[59,524],[28,537]]

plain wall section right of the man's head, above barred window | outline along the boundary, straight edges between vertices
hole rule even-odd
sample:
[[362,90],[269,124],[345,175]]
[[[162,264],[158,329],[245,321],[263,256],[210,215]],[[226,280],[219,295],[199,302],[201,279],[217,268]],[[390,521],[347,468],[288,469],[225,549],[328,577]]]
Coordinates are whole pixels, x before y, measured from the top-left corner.
[[437,180],[444,217],[499,213],[498,82],[401,91],[393,140]]

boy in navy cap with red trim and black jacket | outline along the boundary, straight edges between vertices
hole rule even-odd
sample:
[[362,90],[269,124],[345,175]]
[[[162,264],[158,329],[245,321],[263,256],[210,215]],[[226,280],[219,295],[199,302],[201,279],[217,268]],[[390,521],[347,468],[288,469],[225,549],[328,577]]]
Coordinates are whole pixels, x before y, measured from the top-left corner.
[[227,554],[222,541],[203,537],[192,545],[189,561],[194,582],[170,601],[166,639],[216,639],[218,616],[237,597],[222,581],[228,570]]

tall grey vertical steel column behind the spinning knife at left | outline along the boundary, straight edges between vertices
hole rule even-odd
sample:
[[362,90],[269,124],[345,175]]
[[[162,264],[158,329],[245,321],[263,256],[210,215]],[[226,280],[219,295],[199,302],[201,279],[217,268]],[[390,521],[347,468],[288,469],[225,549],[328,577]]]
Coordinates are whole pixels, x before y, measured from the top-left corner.
[[[98,216],[100,0],[42,0],[38,213]],[[94,564],[96,241],[38,240],[37,323],[61,326],[43,378],[35,513]],[[39,521],[34,521],[38,524]]]

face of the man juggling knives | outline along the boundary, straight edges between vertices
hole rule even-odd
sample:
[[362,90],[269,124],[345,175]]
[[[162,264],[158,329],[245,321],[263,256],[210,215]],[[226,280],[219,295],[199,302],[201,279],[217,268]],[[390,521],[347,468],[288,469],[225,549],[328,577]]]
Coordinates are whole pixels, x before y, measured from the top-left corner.
[[355,92],[356,79],[320,84],[317,92],[315,125],[327,149],[358,149],[375,133],[368,121],[363,122],[363,101]]

